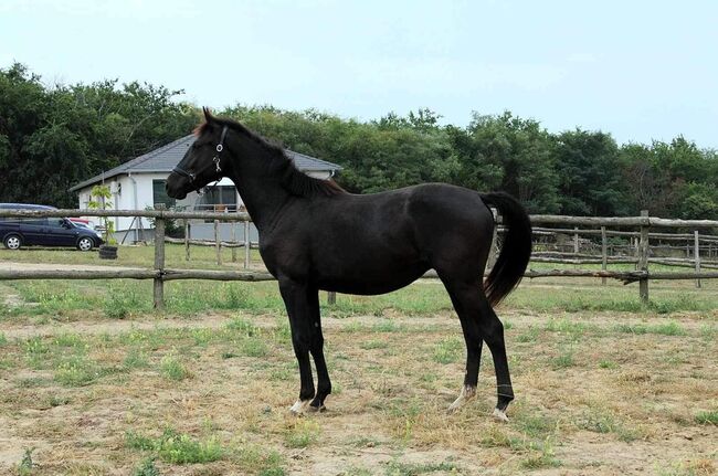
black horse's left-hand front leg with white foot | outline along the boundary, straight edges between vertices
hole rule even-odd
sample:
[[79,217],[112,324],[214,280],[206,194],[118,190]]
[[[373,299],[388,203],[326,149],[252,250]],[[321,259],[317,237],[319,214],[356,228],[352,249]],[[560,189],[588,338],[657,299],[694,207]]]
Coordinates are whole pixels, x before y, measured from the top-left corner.
[[304,413],[315,396],[314,379],[309,351],[314,338],[314,324],[312,322],[310,290],[306,283],[294,279],[279,278],[279,292],[287,308],[289,326],[292,328],[292,345],[299,363],[299,399],[292,405],[292,413]]

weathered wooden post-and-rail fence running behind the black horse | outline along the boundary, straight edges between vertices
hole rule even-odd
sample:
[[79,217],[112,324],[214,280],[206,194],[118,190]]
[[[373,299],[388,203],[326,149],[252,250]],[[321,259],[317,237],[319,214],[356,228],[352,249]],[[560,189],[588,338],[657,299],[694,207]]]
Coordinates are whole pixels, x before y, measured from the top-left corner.
[[[103,271],[0,271],[0,279],[110,279],[110,278],[131,278],[131,279],[152,279],[154,281],[154,303],[156,308],[162,308],[165,304],[163,283],[173,279],[218,279],[218,281],[272,281],[274,277],[268,273],[263,272],[235,272],[235,271],[209,271],[209,269],[171,269],[165,266],[165,224],[167,220],[182,220],[187,226],[187,220],[201,219],[214,220],[215,224],[221,221],[229,222],[244,222],[249,226],[250,216],[246,213],[212,213],[212,212],[176,212],[169,210],[0,210],[0,216],[14,216],[14,218],[50,218],[50,216],[144,216],[155,220],[155,263],[152,269],[103,269]],[[647,212],[642,213],[641,216],[625,216],[625,218],[598,218],[598,216],[563,216],[563,215],[531,215],[531,222],[536,226],[537,235],[541,233],[561,233],[567,229],[542,229],[539,225],[559,225],[559,226],[574,226],[569,229],[569,232],[574,235],[577,246],[576,253],[572,256],[563,255],[543,255],[539,252],[534,261],[550,261],[552,263],[593,263],[596,257],[594,255],[581,255],[580,243],[578,235],[595,235],[600,234],[602,239],[602,254],[600,255],[602,269],[550,269],[550,271],[534,271],[528,269],[525,274],[526,277],[549,277],[549,276],[570,276],[570,277],[601,277],[615,278],[623,281],[624,284],[638,282],[638,294],[642,300],[648,299],[648,281],[650,279],[706,279],[718,278],[718,272],[703,272],[700,263],[700,236],[697,230],[718,229],[718,221],[710,220],[666,220],[648,216]],[[217,225],[215,225],[217,226]],[[588,230],[579,230],[578,226],[589,226]],[[621,228],[621,229],[637,229],[637,231],[609,231],[606,228]],[[599,228],[599,229],[596,229]],[[694,231],[694,260],[693,264],[695,271],[691,273],[655,273],[648,272],[648,264],[656,262],[655,258],[650,257],[648,241],[653,237],[668,237],[682,236],[684,239],[686,233],[680,235],[675,234],[652,234],[652,229],[664,228],[680,228],[693,229]],[[246,229],[245,229],[246,230]],[[549,231],[550,230],[550,231]],[[609,256],[608,236],[623,235],[629,233],[630,236],[635,239],[635,254],[631,257],[625,257],[625,262],[635,263],[635,271],[609,271],[608,264],[621,262],[621,256]],[[245,233],[245,241],[241,244],[225,243],[225,246],[232,248],[244,247],[245,251],[245,267],[249,267],[249,253],[253,247],[250,243],[249,233]],[[663,236],[666,235],[666,236]],[[219,234],[217,234],[219,236]],[[496,236],[496,234],[495,234]],[[626,235],[627,236],[627,235]],[[496,240],[496,239],[495,239]],[[709,235],[706,239],[714,243],[718,240],[717,236]],[[181,240],[187,250],[189,257],[189,240]],[[221,248],[222,243],[219,237],[215,239],[214,246],[218,251]],[[492,258],[496,253],[492,253]],[[711,262],[712,263],[712,262]],[[712,265],[712,264],[711,264]],[[429,272],[424,277],[436,277],[434,272]],[[332,299],[332,296],[329,298]]]

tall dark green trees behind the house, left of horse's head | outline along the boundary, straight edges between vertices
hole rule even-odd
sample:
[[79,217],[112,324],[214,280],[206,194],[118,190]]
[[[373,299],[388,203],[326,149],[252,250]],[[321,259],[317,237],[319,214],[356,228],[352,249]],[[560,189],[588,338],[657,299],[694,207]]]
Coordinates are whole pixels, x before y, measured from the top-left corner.
[[73,207],[68,189],[188,134],[199,115],[181,92],[117,81],[46,87],[0,70],[0,201]]

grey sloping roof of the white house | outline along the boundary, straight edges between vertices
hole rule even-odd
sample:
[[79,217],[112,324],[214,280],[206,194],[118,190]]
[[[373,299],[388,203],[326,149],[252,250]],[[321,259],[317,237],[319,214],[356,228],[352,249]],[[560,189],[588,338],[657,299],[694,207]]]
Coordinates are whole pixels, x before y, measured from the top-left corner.
[[[122,166],[115,167],[114,169],[107,170],[98,176],[93,177],[92,179],[82,181],[70,189],[71,192],[83,189],[93,183],[107,180],[109,178],[123,174],[123,173],[150,173],[150,172],[171,172],[175,167],[182,160],[187,149],[194,142],[196,137],[193,135],[184,136],[181,139],[177,139],[173,142],[169,142],[166,146],[155,149],[151,152],[147,152],[144,156],[139,156],[133,160],[129,160]],[[289,149],[285,149],[287,157],[289,157],[295,166],[305,172],[313,171],[323,171],[323,170],[341,170],[341,166],[336,163],[328,162],[326,160],[317,159],[315,157],[305,156],[304,154],[295,152]]]

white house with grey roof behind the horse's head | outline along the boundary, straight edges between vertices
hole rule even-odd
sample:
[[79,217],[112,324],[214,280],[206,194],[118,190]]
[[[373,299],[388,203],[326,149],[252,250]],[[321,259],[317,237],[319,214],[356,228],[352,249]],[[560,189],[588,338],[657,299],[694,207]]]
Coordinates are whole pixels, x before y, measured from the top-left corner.
[[[80,182],[70,191],[77,192],[81,209],[88,208],[93,187],[105,184],[109,187],[113,195],[110,202],[115,210],[145,210],[161,203],[168,209],[180,208],[188,211],[244,211],[242,198],[236,192],[234,183],[228,178],[222,179],[208,193],[198,194],[191,192],[184,200],[175,200],[167,195],[165,192],[167,176],[184,157],[184,152],[194,142],[194,139],[193,135],[182,137],[119,167]],[[327,179],[341,170],[341,167],[336,163],[292,150],[286,150],[286,154],[299,170],[312,177]],[[112,220],[114,221],[115,234],[118,241],[129,241],[131,243],[137,240],[146,240],[142,230],[151,228],[147,219],[141,219],[141,222],[139,219],[134,220],[124,216]],[[201,221],[193,223],[192,237],[209,237],[204,236],[209,233],[209,226],[201,226]],[[208,230],[203,230],[204,228]]]

